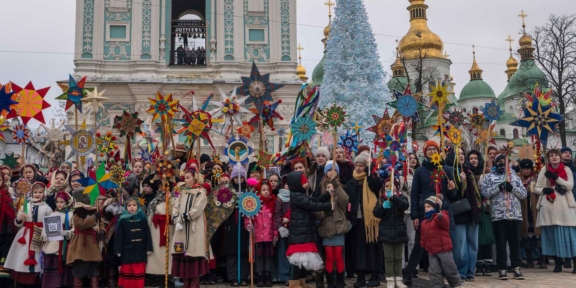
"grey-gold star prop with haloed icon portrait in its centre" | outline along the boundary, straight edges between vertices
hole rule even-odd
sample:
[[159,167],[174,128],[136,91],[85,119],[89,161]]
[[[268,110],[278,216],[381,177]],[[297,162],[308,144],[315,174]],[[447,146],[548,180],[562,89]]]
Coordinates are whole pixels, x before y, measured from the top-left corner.
[[84,167],[86,156],[95,152],[96,145],[101,144],[100,139],[96,138],[94,128],[86,130],[86,120],[82,122],[79,130],[74,130],[70,126],[66,126],[66,129],[70,133],[70,139],[59,142],[58,145],[69,145],[70,154],[68,154],[66,160],[73,156],[79,156],[82,167]]

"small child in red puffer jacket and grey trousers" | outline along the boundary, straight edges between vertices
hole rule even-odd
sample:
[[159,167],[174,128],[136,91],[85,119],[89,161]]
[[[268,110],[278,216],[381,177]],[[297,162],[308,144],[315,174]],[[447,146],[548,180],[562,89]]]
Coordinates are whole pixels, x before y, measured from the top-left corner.
[[420,245],[430,254],[429,276],[432,284],[442,286],[446,278],[451,287],[459,288],[461,281],[452,256],[450,218],[448,211],[439,211],[441,206],[442,194],[424,200],[425,218],[420,227]]

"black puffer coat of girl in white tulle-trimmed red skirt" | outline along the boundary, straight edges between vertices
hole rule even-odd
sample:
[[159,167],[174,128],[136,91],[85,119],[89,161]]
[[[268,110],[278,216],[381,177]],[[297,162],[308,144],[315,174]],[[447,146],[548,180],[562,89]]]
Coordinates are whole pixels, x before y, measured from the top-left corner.
[[316,227],[314,211],[332,210],[330,194],[328,192],[320,197],[306,196],[306,190],[300,184],[302,172],[288,174],[288,188],[290,188],[290,227],[288,244],[306,244],[320,239]]

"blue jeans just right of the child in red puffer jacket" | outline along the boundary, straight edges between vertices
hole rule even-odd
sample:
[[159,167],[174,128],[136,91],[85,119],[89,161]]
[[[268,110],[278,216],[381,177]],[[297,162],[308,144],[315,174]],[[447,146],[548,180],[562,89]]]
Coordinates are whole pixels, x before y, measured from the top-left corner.
[[478,223],[458,224],[450,231],[454,263],[460,276],[474,276],[476,257],[478,257]]

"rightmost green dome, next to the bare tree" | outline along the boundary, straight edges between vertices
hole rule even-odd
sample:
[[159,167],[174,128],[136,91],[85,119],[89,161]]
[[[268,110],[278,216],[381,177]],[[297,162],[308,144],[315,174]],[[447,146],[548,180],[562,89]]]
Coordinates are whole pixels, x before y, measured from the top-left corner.
[[512,75],[504,91],[498,96],[499,100],[520,94],[522,92],[532,91],[534,85],[541,88],[548,87],[548,78],[536,65],[534,59],[526,59],[520,63],[518,71]]

